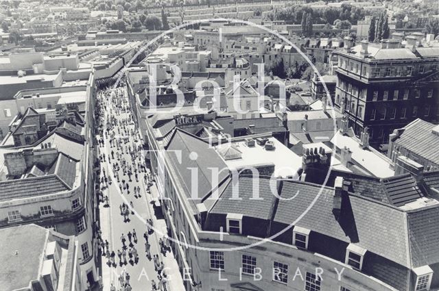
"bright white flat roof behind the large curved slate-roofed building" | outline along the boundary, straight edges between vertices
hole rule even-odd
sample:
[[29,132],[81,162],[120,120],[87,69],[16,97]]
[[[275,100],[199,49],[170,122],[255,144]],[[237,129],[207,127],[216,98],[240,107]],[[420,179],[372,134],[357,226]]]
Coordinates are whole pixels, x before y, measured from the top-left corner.
[[[244,140],[232,142],[235,149],[241,152],[241,158],[224,160],[224,162],[230,169],[274,164],[274,175],[276,177],[297,178],[295,174],[302,168],[302,157],[290,151],[276,138],[270,137],[268,140],[274,143],[274,150],[266,150],[264,146],[259,145],[256,141],[254,147],[248,147]],[[218,151],[219,148],[216,149]],[[222,157],[222,155],[220,156]]]

